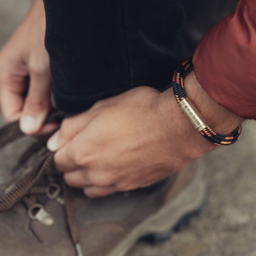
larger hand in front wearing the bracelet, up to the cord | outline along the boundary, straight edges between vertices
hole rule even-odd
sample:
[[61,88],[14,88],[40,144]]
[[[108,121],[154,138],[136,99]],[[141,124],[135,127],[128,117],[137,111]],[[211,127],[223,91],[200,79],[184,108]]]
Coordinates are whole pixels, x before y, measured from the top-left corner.
[[67,184],[90,197],[148,186],[215,147],[195,131],[170,90],[150,87],[97,102],[65,119],[48,141]]

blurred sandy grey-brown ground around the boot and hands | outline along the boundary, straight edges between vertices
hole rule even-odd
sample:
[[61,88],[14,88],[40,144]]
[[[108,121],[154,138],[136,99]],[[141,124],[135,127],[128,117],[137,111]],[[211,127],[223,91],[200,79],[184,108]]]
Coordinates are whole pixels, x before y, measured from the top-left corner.
[[[26,13],[30,0],[0,0],[0,47]],[[256,122],[239,143],[202,158],[209,199],[202,214],[157,246],[138,243],[129,256],[256,256]]]

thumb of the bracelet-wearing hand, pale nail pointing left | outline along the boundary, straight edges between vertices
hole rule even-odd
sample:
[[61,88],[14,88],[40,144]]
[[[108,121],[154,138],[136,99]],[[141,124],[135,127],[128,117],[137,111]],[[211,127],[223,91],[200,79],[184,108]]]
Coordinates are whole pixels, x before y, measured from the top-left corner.
[[88,122],[88,111],[85,111],[77,116],[72,116],[64,119],[61,123],[61,128],[49,138],[47,148],[49,151],[55,152],[63,147],[67,142],[72,140],[76,134],[83,130]]

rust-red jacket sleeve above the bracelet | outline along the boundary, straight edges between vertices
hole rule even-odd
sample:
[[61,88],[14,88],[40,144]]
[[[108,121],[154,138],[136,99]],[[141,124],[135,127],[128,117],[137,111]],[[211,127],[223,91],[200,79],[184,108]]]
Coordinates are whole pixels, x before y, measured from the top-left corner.
[[212,99],[256,119],[256,0],[239,0],[236,12],[204,35],[193,64]]

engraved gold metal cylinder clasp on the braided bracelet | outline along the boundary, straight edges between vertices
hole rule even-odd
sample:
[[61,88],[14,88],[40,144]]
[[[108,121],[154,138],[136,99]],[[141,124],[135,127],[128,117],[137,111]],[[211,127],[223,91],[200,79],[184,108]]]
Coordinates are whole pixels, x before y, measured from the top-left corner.
[[207,127],[206,122],[190,99],[183,99],[181,102],[179,102],[179,105],[196,130],[202,131]]

